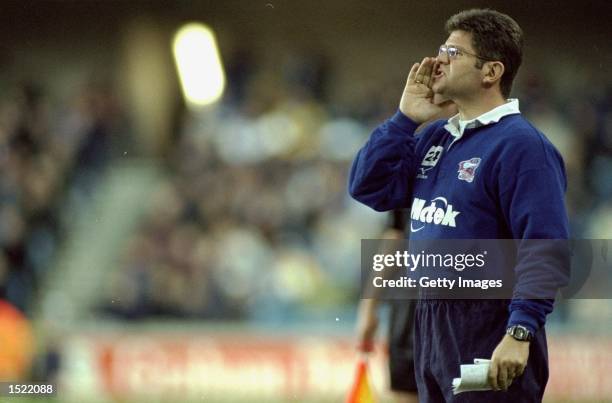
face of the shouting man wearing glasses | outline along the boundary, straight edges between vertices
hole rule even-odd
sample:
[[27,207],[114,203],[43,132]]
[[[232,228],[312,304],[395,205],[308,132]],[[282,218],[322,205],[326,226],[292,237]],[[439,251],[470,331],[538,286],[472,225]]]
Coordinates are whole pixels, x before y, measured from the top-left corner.
[[478,58],[472,56],[477,54],[472,47],[472,34],[453,31],[445,44],[449,47],[455,46],[459,53],[455,57],[449,57],[447,54],[438,55],[434,66],[433,91],[450,99],[473,94],[481,86],[482,69],[475,67]]

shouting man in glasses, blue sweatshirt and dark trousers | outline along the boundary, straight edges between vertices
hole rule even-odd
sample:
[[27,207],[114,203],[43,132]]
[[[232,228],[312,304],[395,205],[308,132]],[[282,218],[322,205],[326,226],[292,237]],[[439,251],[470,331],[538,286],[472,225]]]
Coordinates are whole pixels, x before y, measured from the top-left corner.
[[[559,153],[507,100],[522,61],[522,31],[493,10],[446,23],[438,56],[412,66],[399,111],[359,151],[349,190],[377,211],[412,207],[411,240],[567,239],[566,177]],[[459,113],[418,125],[454,102]],[[427,204],[426,204],[427,203]],[[424,206],[442,210],[432,219]],[[431,210],[428,210],[431,211]],[[568,254],[517,241],[512,300],[419,300],[415,371],[423,402],[540,402],[548,379],[544,322],[568,281]],[[536,287],[537,288],[537,287]],[[554,294],[553,294],[554,295]],[[505,392],[453,396],[459,365],[491,357],[489,381]]]

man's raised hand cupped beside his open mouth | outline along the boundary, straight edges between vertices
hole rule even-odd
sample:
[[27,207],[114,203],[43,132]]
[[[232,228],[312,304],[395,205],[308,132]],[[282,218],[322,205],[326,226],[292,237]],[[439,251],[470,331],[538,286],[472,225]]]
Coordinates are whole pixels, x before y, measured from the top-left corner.
[[400,100],[400,111],[416,123],[424,123],[443,115],[445,108],[452,103],[434,102],[434,92],[431,89],[435,57],[426,57],[421,63],[415,63],[410,69],[406,87]]

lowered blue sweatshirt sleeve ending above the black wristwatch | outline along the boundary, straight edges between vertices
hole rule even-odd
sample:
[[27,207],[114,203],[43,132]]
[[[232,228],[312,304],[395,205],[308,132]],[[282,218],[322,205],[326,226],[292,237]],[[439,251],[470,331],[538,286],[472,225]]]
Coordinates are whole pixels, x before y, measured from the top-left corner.
[[520,324],[535,333],[552,312],[557,291],[569,282],[567,180],[563,160],[552,144],[537,136],[523,140],[511,151],[518,156],[514,164],[500,172],[505,175],[500,178],[506,178],[500,202],[518,240],[508,326]]

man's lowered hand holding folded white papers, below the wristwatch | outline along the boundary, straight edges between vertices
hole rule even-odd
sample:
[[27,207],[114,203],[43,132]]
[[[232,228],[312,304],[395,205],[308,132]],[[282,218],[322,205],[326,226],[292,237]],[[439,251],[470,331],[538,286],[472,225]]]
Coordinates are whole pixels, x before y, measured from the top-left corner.
[[489,382],[493,390],[507,390],[523,374],[529,358],[529,342],[504,335],[491,356]]

